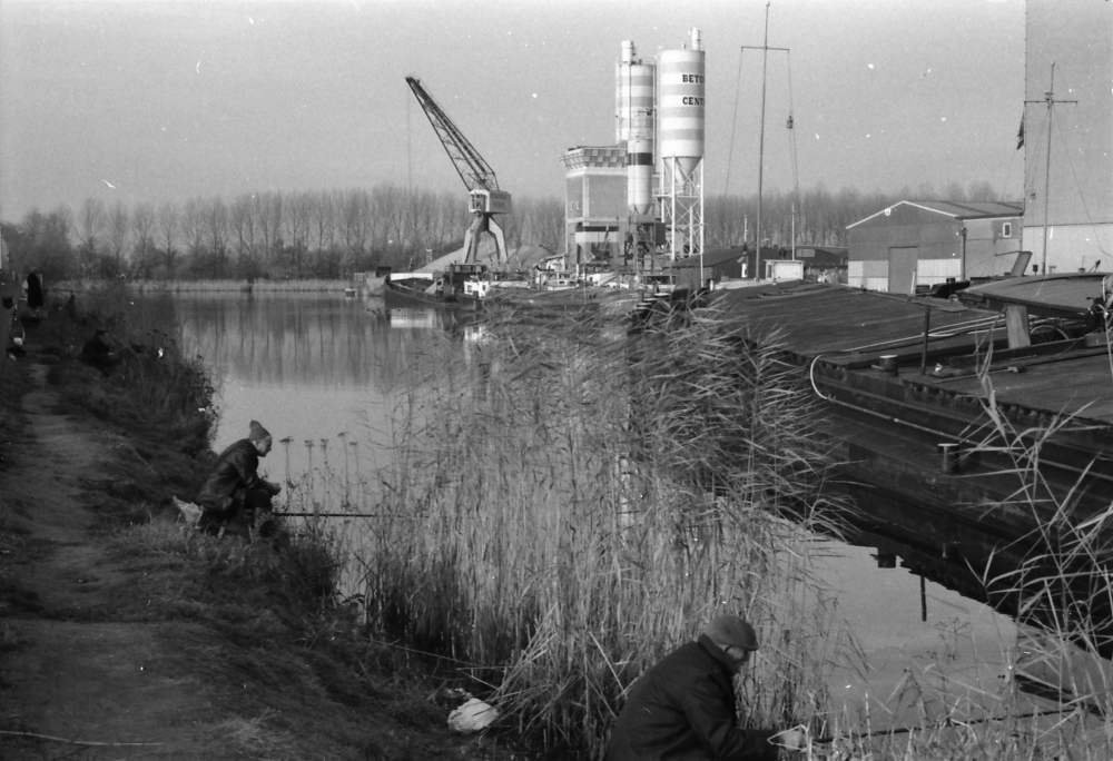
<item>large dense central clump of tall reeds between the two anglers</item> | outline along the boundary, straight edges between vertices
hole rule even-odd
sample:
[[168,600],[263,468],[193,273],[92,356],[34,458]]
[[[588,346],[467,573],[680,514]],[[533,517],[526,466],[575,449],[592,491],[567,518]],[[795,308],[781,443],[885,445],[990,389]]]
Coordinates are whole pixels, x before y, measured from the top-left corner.
[[776,338],[711,310],[634,335],[598,314],[526,322],[500,313],[460,360],[414,367],[359,552],[372,623],[456,659],[503,725],[599,757],[633,680],[738,613],[765,643],[748,719],[821,729],[848,643],[782,516],[830,523]]

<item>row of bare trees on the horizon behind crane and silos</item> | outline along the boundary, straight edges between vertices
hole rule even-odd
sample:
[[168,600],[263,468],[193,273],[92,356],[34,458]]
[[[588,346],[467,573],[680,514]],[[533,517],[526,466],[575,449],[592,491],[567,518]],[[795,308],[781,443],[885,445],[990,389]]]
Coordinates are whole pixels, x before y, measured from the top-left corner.
[[[953,184],[936,194],[853,188],[831,192],[817,186],[795,194],[767,191],[761,204],[761,237],[772,245],[839,246],[846,226],[902,199],[998,200],[987,182]],[[709,247],[754,243],[757,196],[706,199]],[[407,192],[394,185],[370,190],[245,194],[232,201],[191,198],[185,204],[106,206],[87,199],[29,211],[18,224],[3,223],[13,268],[38,268],[50,280],[72,277],[142,279],[286,279],[346,277],[391,266],[411,269],[459,248],[471,224],[462,192]],[[511,248],[564,249],[564,202],[560,198],[518,197],[500,217]],[[745,237],[743,237],[745,233]]]

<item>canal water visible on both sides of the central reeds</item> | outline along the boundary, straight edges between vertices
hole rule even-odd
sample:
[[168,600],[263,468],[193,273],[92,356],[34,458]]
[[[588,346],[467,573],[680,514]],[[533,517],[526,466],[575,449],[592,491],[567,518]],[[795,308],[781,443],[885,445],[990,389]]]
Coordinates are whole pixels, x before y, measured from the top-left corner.
[[[187,342],[219,382],[214,447],[244,437],[257,419],[276,442],[266,475],[317,473],[317,484],[326,471],[367,474],[388,462],[407,357],[431,350],[433,332],[451,319],[344,294],[181,295],[177,304]],[[463,350],[467,333],[456,333]],[[849,712],[867,711],[884,730],[914,723],[917,699],[938,715],[942,696],[1004,691],[1017,639],[1009,619],[899,563],[879,567],[888,564],[873,547],[816,542],[819,572],[865,656],[865,673],[839,672],[831,683]]]

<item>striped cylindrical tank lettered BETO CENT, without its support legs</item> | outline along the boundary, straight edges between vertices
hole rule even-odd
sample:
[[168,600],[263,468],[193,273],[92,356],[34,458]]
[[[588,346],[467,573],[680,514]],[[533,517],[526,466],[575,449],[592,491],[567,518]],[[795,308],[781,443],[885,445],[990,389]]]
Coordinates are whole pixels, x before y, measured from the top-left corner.
[[692,29],[691,39],[691,48],[663,50],[658,59],[661,159],[668,172],[676,166],[677,180],[690,177],[703,158],[707,66],[699,29]]

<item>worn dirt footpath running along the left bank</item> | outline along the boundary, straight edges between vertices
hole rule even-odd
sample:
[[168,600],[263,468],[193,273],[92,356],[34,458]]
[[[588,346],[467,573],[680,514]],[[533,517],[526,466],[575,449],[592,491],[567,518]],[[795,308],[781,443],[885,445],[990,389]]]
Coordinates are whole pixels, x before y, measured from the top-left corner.
[[220,701],[191,675],[196,654],[170,646],[165,624],[112,621],[109,602],[129,576],[101,548],[80,495],[83,481],[104,477],[97,453],[122,441],[55,414],[47,369],[31,367],[29,433],[0,472],[0,508],[16,516],[10,527],[30,557],[14,581],[33,593],[20,610],[0,607],[0,758],[243,758],[211,708]]

